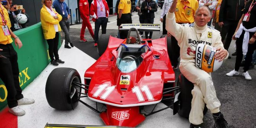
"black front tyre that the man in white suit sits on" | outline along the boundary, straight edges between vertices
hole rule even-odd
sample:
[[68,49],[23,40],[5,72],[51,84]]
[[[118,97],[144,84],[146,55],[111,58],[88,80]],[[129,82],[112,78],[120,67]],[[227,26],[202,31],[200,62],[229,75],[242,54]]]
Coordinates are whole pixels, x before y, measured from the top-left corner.
[[[180,95],[178,99],[180,103],[178,105],[178,113],[181,117],[188,118],[191,110],[191,100],[193,98],[191,91],[194,88],[194,84],[188,81],[182,74],[178,78],[177,86],[180,86]],[[206,104],[204,105],[203,114],[207,112]]]

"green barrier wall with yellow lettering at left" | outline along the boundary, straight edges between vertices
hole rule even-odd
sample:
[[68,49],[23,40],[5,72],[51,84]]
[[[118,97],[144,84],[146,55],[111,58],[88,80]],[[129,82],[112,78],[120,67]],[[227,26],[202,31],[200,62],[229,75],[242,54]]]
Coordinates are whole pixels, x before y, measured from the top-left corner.
[[[19,85],[24,89],[49,64],[48,44],[44,39],[41,23],[15,31],[14,33],[23,43],[21,49],[18,49],[14,42],[12,45],[18,53]],[[0,79],[0,110],[7,105],[7,93],[3,81]]]

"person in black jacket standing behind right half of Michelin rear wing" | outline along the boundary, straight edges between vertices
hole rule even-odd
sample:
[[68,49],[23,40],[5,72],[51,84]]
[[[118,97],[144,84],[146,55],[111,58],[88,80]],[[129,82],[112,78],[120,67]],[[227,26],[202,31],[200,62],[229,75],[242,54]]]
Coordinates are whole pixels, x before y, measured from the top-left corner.
[[[155,12],[157,11],[157,5],[154,0],[146,0],[141,5],[141,12],[144,13],[144,23],[154,23]],[[148,36],[149,33],[149,36]],[[153,32],[145,32],[146,39],[152,38]]]

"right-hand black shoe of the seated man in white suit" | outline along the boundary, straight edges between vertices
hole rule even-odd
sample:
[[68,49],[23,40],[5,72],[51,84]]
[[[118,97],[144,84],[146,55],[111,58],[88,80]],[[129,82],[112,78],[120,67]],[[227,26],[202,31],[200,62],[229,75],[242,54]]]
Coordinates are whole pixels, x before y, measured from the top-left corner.
[[[227,121],[223,117],[223,114],[221,112],[218,112],[218,113],[219,113],[218,116],[215,116],[212,114],[212,116],[215,120],[214,128],[229,128]],[[215,113],[215,114],[217,114],[217,113]]]

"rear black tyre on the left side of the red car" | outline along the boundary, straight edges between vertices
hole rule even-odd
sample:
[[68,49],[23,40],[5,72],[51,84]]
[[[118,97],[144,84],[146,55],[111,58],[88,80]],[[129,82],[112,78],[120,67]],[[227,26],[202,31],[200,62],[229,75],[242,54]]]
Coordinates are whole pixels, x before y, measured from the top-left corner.
[[109,44],[109,38],[110,36],[112,37],[117,37],[115,34],[101,34],[98,40],[98,45],[97,45],[97,50],[99,56],[101,56],[105,50],[107,49],[107,45]]

